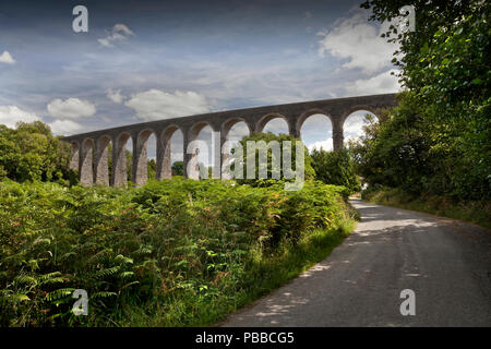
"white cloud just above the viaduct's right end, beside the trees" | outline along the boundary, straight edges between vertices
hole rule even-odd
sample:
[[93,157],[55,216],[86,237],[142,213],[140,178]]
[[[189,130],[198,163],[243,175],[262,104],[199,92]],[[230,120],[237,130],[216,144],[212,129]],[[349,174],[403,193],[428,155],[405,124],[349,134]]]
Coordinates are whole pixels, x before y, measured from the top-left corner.
[[345,88],[352,96],[396,93],[400,91],[400,85],[397,82],[397,76],[391,75],[392,72],[397,74],[397,70],[392,69],[369,79],[360,79],[354,83],[348,83]]

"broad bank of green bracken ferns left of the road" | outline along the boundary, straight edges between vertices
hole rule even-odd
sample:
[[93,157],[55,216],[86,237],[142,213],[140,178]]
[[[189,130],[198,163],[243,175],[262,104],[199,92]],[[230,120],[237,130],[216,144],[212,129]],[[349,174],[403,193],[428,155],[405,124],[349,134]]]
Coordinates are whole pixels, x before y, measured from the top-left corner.
[[[205,325],[325,255],[352,226],[342,186],[0,183],[0,325]],[[323,246],[320,249],[319,246]],[[322,250],[322,251],[321,251]],[[288,272],[288,273],[287,273]],[[74,316],[74,289],[89,297]]]

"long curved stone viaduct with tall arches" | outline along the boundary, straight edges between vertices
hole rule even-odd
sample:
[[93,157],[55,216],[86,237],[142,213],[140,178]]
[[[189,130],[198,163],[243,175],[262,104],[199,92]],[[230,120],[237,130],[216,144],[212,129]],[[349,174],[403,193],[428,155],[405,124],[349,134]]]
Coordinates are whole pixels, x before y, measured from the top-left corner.
[[[396,105],[395,96],[395,94],[371,95],[218,111],[82,133],[67,136],[63,141],[72,144],[70,166],[79,169],[82,184],[96,183],[119,186],[127,184],[124,149],[127,141],[131,137],[133,143],[132,181],[136,185],[142,185],[148,177],[146,143],[152,133],[155,134],[157,140],[156,178],[171,177],[170,139],[178,129],[181,130],[184,139],[184,177],[193,178],[192,173],[187,173],[187,168],[195,154],[187,154],[187,149],[190,142],[195,140],[200,131],[206,125],[209,125],[213,131],[219,132],[221,149],[230,129],[237,122],[243,121],[248,125],[249,132],[262,132],[270,120],[283,118],[288,124],[289,133],[301,139],[300,130],[303,121],[312,115],[321,113],[331,119],[334,151],[338,151],[344,143],[343,125],[350,113],[358,110],[368,110],[376,115],[382,108],[394,107]],[[111,178],[109,178],[108,169],[110,143],[112,144]],[[221,160],[220,155],[214,159],[218,169]]]

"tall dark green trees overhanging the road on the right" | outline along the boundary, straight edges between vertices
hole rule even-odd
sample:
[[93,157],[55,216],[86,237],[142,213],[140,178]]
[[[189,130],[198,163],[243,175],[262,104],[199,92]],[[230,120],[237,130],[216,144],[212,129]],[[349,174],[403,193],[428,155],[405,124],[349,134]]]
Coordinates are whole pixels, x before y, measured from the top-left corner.
[[[414,4],[416,32],[385,33],[400,45],[408,92],[376,136],[358,148],[371,183],[462,200],[491,197],[488,1],[367,1],[372,20]],[[361,166],[359,167],[362,168]]]

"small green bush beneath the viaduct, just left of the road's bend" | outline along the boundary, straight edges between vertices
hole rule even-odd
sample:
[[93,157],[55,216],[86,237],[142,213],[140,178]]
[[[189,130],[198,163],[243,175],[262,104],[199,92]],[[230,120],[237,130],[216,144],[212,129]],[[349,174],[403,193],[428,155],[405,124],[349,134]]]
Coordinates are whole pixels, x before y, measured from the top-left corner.
[[360,191],[360,180],[355,163],[347,149],[326,152],[313,149],[311,153],[315,178],[326,184],[343,185],[349,193]]

